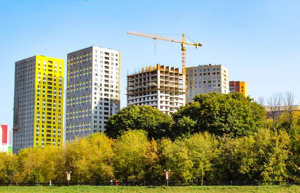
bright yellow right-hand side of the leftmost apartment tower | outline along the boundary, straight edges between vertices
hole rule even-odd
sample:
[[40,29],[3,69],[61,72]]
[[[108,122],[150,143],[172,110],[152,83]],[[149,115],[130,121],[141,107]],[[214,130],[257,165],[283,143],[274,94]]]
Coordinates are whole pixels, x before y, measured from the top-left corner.
[[63,143],[64,61],[35,57],[34,144],[60,147]]

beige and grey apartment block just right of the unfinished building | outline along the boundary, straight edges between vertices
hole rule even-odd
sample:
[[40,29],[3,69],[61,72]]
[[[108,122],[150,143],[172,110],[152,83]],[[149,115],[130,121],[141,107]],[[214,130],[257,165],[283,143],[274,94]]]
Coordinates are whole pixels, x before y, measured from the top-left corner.
[[207,64],[186,67],[186,102],[192,102],[197,94],[229,93],[229,70],[223,65]]

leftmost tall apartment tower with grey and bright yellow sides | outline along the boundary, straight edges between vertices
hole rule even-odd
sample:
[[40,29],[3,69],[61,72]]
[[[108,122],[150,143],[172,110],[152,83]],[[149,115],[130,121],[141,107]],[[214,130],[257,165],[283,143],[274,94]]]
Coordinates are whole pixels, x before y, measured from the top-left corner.
[[63,67],[62,59],[42,55],[15,62],[13,153],[62,146]]

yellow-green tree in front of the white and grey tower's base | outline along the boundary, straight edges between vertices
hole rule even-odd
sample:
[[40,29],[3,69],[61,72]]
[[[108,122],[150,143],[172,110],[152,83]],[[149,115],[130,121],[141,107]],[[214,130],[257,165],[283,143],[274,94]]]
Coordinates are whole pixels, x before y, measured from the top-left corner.
[[113,178],[112,140],[94,133],[67,146],[68,169],[77,182],[101,182]]

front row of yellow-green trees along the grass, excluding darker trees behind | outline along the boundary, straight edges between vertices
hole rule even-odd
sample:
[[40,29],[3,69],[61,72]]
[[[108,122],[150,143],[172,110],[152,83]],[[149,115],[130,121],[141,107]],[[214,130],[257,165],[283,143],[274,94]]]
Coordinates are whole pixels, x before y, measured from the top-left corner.
[[142,130],[116,140],[95,133],[65,148],[29,148],[18,155],[0,153],[0,183],[299,180],[300,140],[286,132],[259,129],[239,138],[208,132],[151,140]]

